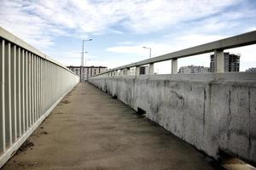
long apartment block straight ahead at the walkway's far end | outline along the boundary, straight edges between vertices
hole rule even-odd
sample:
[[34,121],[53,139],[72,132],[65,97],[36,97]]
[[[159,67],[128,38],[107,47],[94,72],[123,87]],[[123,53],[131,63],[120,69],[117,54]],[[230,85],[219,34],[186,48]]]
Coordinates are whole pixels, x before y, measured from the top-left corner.
[[[73,71],[76,75],[81,78],[81,82],[88,81],[89,77],[95,76],[101,72],[107,70],[106,66],[67,66],[67,68]],[[82,74],[81,74],[82,71]]]

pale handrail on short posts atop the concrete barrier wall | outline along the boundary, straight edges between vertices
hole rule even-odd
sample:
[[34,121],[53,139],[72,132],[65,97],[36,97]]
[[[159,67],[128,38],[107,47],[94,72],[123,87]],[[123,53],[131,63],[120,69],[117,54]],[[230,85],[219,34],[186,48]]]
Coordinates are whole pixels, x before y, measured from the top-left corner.
[[[172,60],[172,74],[177,74],[177,59],[197,54],[214,52],[217,59],[217,72],[224,72],[224,49],[238,48],[256,43],[256,31],[247,32],[235,37],[224,38],[215,42],[208,42],[192,48],[186,48],[170,54],[160,55],[151,59],[144,59],[129,65],[119,66],[111,70],[97,74],[94,77],[113,77],[116,75],[127,76],[131,67],[136,67],[136,75],[139,75],[139,67],[149,65],[149,74],[154,74],[154,63]],[[92,78],[92,77],[91,77]]]

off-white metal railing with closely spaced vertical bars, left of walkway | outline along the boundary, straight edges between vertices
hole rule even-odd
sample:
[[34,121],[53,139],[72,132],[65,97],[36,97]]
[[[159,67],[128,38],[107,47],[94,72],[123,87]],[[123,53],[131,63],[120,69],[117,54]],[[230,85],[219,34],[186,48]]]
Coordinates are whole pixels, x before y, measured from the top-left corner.
[[67,67],[0,27],[0,167],[78,82]]

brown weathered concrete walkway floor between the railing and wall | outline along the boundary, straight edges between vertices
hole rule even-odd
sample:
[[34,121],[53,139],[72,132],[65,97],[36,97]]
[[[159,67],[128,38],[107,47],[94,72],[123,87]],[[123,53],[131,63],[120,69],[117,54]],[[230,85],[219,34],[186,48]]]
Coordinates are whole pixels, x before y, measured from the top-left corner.
[[87,83],[74,88],[28,140],[3,170],[213,169],[190,144]]

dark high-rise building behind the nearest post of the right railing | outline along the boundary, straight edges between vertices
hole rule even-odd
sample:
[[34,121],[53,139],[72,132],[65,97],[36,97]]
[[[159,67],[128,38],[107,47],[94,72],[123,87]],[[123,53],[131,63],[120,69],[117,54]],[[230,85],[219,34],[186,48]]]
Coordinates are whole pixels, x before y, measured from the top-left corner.
[[[210,71],[217,72],[217,59],[214,54],[210,56]],[[236,54],[224,53],[224,72],[239,71],[240,56]]]

